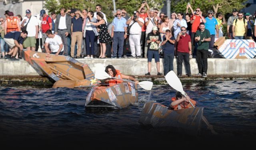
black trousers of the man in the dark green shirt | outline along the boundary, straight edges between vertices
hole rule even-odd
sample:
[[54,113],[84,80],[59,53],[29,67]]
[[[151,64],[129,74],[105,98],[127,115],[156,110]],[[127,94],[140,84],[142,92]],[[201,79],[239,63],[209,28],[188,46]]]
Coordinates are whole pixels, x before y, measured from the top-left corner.
[[196,52],[196,62],[197,62],[198,71],[200,74],[203,74],[203,72],[207,73],[207,69],[208,69],[207,56],[208,56],[208,50],[197,50]]

